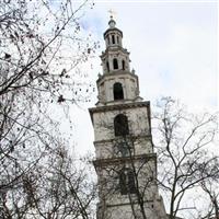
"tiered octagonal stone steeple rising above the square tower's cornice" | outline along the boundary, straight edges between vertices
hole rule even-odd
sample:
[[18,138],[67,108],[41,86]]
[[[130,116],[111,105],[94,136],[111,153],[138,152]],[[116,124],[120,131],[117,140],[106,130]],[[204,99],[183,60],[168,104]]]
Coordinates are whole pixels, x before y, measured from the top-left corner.
[[105,50],[100,56],[103,74],[96,82],[99,89],[96,105],[140,101],[138,77],[134,70],[130,71],[129,53],[123,47],[123,32],[116,27],[113,16],[103,36]]

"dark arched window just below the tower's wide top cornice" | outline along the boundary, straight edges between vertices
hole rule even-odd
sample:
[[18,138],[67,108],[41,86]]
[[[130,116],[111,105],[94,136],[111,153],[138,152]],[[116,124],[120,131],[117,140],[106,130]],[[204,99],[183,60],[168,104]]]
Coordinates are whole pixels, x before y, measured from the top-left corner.
[[114,131],[115,136],[125,136],[129,134],[127,116],[118,114],[114,118]]

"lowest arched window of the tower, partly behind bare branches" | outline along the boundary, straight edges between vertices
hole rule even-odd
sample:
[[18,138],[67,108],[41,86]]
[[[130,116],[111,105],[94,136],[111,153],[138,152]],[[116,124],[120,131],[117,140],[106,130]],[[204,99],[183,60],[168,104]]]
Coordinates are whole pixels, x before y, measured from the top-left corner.
[[135,174],[131,169],[122,169],[119,172],[119,188],[122,195],[136,193]]

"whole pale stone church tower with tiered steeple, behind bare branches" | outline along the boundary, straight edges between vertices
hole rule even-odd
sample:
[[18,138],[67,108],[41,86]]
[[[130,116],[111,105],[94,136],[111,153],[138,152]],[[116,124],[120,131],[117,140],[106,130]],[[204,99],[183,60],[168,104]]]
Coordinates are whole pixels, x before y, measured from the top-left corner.
[[150,102],[139,96],[123,32],[111,18],[104,33],[97,103],[90,108],[94,128],[94,166],[99,183],[97,219],[165,219],[157,185],[157,154]]

